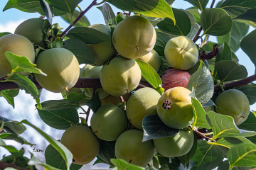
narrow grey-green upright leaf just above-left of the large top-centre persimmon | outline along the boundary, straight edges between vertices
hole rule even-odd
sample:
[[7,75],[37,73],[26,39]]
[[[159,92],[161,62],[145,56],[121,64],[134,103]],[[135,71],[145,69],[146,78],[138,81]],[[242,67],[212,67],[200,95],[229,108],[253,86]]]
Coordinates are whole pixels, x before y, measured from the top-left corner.
[[107,26],[117,25],[116,16],[109,4],[105,2],[102,6],[98,6],[97,8],[102,11]]

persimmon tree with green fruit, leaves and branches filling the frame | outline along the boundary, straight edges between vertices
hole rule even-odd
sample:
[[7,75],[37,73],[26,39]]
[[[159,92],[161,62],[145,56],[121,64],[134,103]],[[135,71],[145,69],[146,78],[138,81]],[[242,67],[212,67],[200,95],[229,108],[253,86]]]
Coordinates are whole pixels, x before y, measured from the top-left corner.
[[[85,9],[81,1],[9,0],[3,9],[41,17],[0,33],[0,96],[14,107],[26,91],[43,122],[65,135],[0,116],[0,149],[10,152],[0,169],[75,170],[92,159],[110,169],[256,167],[256,74],[248,77],[235,55],[241,47],[256,64],[256,30],[247,33],[256,28],[256,0],[186,0],[193,7],[183,9],[174,0],[93,0]],[[92,6],[105,23],[90,26]],[[70,26],[61,29],[53,16]],[[63,99],[41,102],[43,88]],[[50,142],[46,162],[6,145],[33,145],[20,136],[24,125]]]

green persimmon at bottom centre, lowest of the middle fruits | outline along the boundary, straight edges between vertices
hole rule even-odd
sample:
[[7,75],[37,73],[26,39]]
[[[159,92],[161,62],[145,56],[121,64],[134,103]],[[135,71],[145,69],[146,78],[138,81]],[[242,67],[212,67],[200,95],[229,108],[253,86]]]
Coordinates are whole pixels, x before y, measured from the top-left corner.
[[117,159],[124,159],[130,164],[145,166],[154,156],[152,140],[142,142],[142,130],[127,130],[117,138],[115,155]]

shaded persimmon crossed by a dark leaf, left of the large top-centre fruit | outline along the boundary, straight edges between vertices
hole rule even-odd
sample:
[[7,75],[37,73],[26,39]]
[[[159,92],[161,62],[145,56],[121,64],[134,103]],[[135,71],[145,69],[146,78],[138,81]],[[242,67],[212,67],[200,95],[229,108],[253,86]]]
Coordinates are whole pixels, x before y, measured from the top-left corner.
[[[92,26],[88,26],[88,28],[100,29],[102,32],[110,35],[110,39],[112,40],[111,30],[108,26],[103,24],[94,24]],[[111,45],[107,42],[100,42],[98,44],[87,44],[92,51],[93,57],[95,58],[95,63],[92,65],[101,66],[111,60],[115,55],[117,55],[117,51],[114,49],[114,45]]]

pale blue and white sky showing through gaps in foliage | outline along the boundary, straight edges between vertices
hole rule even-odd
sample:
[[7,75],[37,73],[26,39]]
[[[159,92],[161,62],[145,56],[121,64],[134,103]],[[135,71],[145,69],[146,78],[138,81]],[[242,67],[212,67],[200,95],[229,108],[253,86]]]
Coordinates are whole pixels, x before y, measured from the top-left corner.
[[[7,11],[2,12],[2,9],[6,5],[7,1],[8,0],[1,0],[1,3],[0,3],[0,9],[1,9],[1,11],[0,11],[0,33],[4,32],[4,31],[9,31],[11,33],[14,33],[16,26],[18,26],[18,24],[21,23],[22,21],[26,21],[29,18],[38,18],[40,16],[38,13],[24,13],[22,11],[16,10],[15,8],[11,8]],[[82,9],[85,9],[91,2],[92,2],[92,0],[90,0],[90,1],[84,0],[79,4],[79,6]],[[100,1],[98,1],[98,2],[100,2]],[[192,5],[183,0],[176,0],[176,1],[174,1],[173,6],[175,8],[186,9],[186,8],[191,7]],[[210,6],[210,4],[208,6]],[[113,8],[113,10],[114,10],[114,13],[117,13],[118,11],[120,11],[117,8]],[[96,24],[96,23],[105,24],[102,13],[95,6],[93,8],[91,8],[85,14],[85,16],[87,16],[87,18],[89,19],[91,24]],[[62,28],[68,27],[68,23],[63,21],[63,19],[60,17],[53,18],[53,23],[59,23],[60,27],[62,27]],[[250,28],[250,31],[251,30],[253,30],[253,28]],[[215,38],[210,38],[210,40],[216,42]],[[239,63],[244,65],[247,68],[247,72],[249,73],[249,75],[254,74],[255,66],[250,61],[249,57],[247,57],[247,55],[245,55],[245,53],[242,52],[242,50],[238,50],[238,52],[236,52],[236,55],[238,56],[238,58],[240,60]],[[43,91],[43,94],[45,96],[43,98],[41,98],[41,101],[61,98],[60,94],[53,94],[48,91]],[[26,98],[26,99],[24,100],[24,98]],[[31,121],[31,123],[38,125],[39,128],[48,132],[48,134],[52,135],[56,139],[59,139],[59,137],[63,133],[63,130],[56,131],[56,130],[53,130],[52,128],[48,127],[47,125],[43,124],[43,122],[40,120],[40,118],[38,118],[37,112],[34,111],[35,104],[36,103],[35,103],[35,101],[33,101],[33,98],[30,95],[25,94],[24,92],[21,92],[21,94],[19,94],[18,97],[16,98],[16,108],[15,109],[11,108],[11,106],[9,106],[9,104],[6,103],[4,98],[0,98],[0,115],[4,116],[6,118],[15,119],[15,120],[28,119]],[[251,106],[251,110],[256,110],[256,105]],[[15,118],[13,118],[13,115],[15,115]],[[34,130],[31,130],[30,128],[28,128],[28,130],[29,131],[25,135],[33,136],[35,134]],[[40,148],[40,146],[46,142],[45,140],[43,140],[42,137],[39,137],[39,136],[34,136],[34,137],[32,137],[32,139],[38,145],[37,148]],[[21,147],[21,145],[16,145],[16,147]],[[27,147],[27,149],[31,150],[31,148],[29,148],[29,147]],[[8,154],[8,152],[1,151],[0,159],[3,154]],[[40,155],[38,155],[38,157],[40,157]],[[96,169],[96,167],[95,167],[95,169]]]

